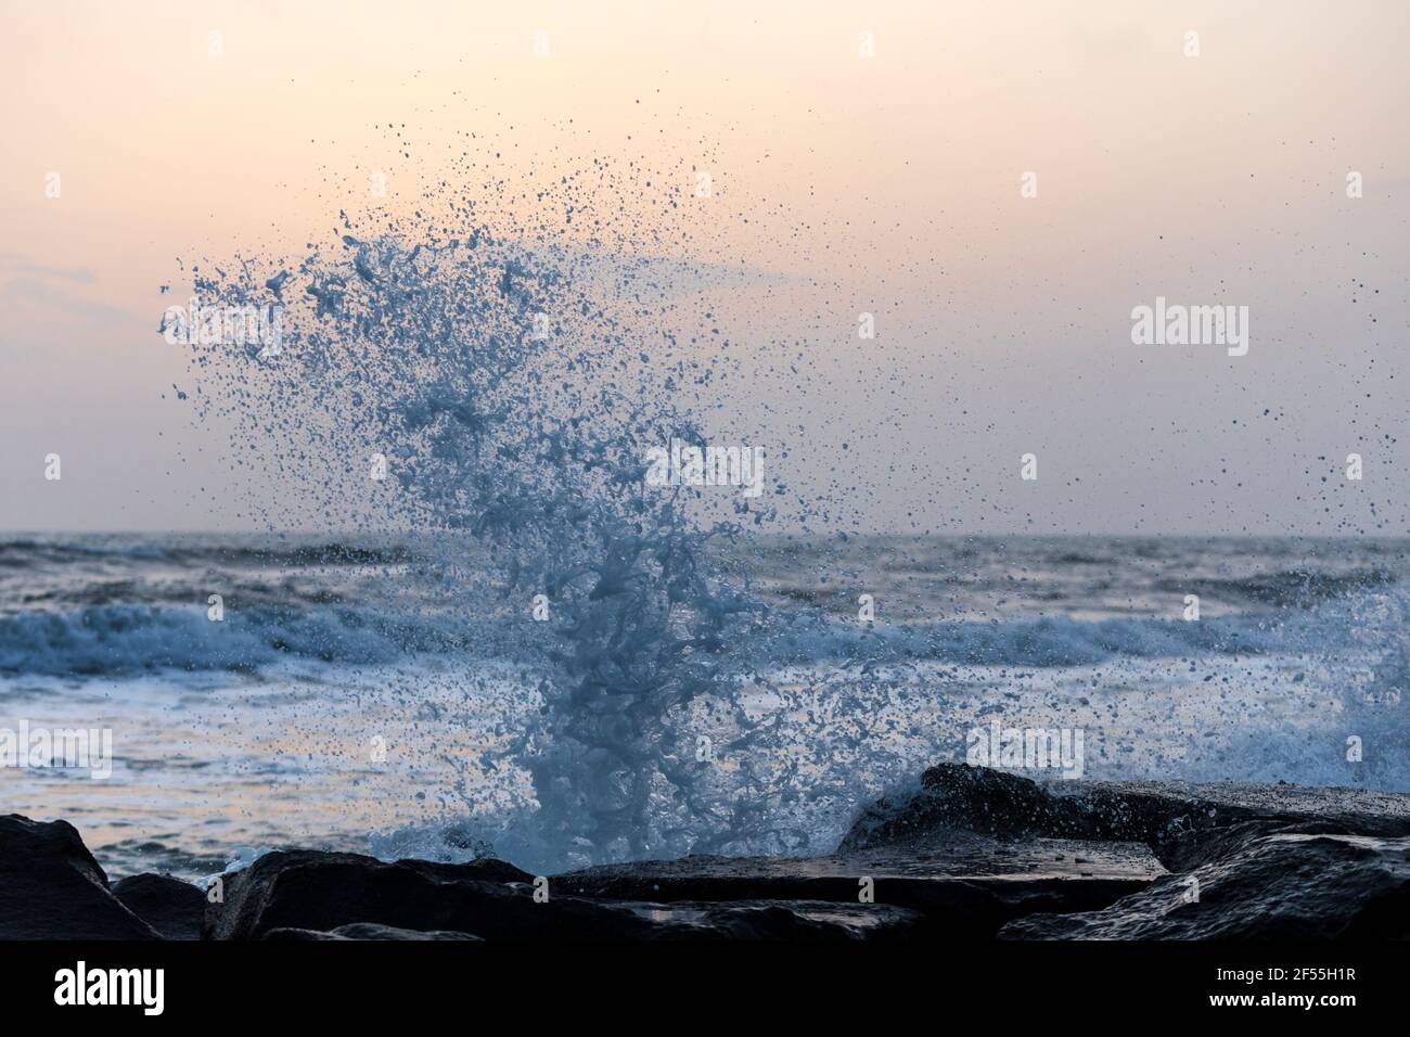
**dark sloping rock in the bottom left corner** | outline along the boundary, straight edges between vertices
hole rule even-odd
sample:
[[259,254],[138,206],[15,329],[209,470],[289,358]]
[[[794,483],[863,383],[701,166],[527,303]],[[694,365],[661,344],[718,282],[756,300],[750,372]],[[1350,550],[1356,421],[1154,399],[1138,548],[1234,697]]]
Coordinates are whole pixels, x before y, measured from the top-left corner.
[[159,940],[68,821],[0,817],[0,940]]

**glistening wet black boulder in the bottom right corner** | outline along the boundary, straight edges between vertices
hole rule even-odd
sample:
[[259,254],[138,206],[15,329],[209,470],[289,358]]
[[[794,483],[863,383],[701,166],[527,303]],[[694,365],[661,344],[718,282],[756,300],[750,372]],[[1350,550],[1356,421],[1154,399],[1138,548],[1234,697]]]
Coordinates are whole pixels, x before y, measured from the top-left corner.
[[[1235,825],[1224,855],[1094,913],[1038,914],[1005,940],[1406,940],[1410,838],[1266,835]],[[1197,899],[1194,899],[1197,895]]]

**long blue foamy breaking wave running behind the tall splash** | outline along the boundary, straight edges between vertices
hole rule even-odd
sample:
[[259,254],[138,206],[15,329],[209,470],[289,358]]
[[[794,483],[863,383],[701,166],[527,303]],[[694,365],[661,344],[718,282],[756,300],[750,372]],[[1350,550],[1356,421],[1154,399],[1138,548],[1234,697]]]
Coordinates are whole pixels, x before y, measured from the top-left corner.
[[[381,663],[419,653],[522,660],[541,648],[523,617],[405,612],[354,605],[227,610],[100,604],[0,617],[0,672],[121,676],[166,669],[255,670],[303,657]],[[1325,618],[1299,614],[1177,619],[1065,617],[863,628],[818,611],[771,610],[743,645],[716,646],[722,667],[795,665],[1084,666],[1120,657],[1296,652],[1327,636]]]

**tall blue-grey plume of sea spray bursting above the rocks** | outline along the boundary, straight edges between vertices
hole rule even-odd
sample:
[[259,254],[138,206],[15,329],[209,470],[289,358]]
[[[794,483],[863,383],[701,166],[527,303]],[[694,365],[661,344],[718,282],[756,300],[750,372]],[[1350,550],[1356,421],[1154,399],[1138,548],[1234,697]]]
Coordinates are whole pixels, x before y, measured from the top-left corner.
[[[735,834],[753,810],[725,775],[747,779],[747,765],[722,769],[695,746],[715,736],[729,758],[747,744],[754,724],[739,686],[721,680],[721,656],[764,608],[704,549],[737,526],[694,523],[691,490],[649,485],[643,463],[643,444],[701,439],[667,385],[699,377],[699,361],[663,363],[647,341],[660,329],[625,320],[630,305],[601,279],[588,295],[560,264],[484,227],[416,237],[347,233],[292,268],[197,271],[207,305],[285,305],[274,361],[197,347],[204,399],[272,433],[286,471],[312,451],[345,457],[344,480],[321,494],[330,514],[403,523],[423,550],[461,529],[492,545],[498,571],[485,573],[482,559],[461,567],[447,542],[431,567],[450,593],[547,595],[543,711],[501,751],[537,800],[498,832],[516,859],[671,855]],[[374,450],[400,494],[354,488]],[[706,734],[697,725],[711,717]]]

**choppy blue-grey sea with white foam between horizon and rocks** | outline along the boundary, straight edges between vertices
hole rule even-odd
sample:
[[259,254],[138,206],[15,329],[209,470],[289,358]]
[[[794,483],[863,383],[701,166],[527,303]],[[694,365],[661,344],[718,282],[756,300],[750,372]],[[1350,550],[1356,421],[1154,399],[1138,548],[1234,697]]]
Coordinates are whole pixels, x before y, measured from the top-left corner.
[[[113,772],[3,768],[4,808],[70,820],[114,875],[195,876],[289,845],[499,852],[544,871],[819,852],[860,804],[964,760],[969,732],[995,721],[1080,731],[1093,779],[1410,792],[1410,542],[744,536],[698,550],[712,581],[746,590],[713,639],[689,632],[709,665],[682,677],[688,659],[651,655],[682,643],[660,631],[630,649],[650,657],[644,676],[605,657],[585,670],[574,646],[616,635],[553,615],[563,590],[536,621],[474,533],[10,536],[0,727],[109,728]],[[606,614],[603,595],[584,598]],[[619,684],[658,708],[589,694]],[[591,722],[563,720],[575,710]]]

